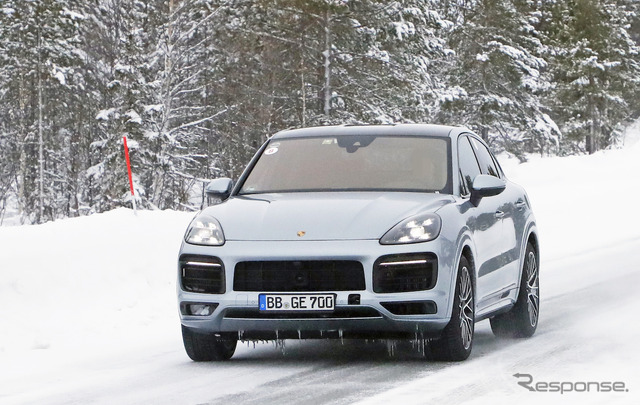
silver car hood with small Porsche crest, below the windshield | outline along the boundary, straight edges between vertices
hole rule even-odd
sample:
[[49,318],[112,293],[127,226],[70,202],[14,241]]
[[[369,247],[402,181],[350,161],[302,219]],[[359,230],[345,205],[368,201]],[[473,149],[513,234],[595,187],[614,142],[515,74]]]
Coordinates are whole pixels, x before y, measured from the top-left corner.
[[452,201],[449,195],[401,192],[255,194],[203,212],[220,221],[230,241],[379,239],[403,219]]

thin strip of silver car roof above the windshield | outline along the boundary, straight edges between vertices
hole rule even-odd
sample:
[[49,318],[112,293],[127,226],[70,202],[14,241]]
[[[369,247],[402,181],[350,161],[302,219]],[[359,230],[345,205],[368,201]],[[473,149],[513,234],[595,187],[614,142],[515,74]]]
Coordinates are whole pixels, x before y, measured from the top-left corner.
[[271,139],[349,135],[404,135],[446,138],[461,132],[471,131],[464,127],[432,124],[334,125],[287,129],[276,133]]

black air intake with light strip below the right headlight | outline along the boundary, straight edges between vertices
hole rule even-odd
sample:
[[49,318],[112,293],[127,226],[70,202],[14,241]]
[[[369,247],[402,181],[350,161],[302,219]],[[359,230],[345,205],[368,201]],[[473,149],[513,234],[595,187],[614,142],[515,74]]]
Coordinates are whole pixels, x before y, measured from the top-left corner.
[[429,290],[436,285],[437,275],[438,259],[432,253],[382,256],[373,265],[373,291]]

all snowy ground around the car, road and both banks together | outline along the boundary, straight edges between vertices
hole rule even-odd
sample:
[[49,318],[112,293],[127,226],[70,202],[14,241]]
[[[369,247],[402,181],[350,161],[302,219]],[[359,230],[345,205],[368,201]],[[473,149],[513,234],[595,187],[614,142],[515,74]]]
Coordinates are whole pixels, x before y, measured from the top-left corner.
[[[317,341],[287,342],[285,354],[241,346],[230,362],[192,363],[175,282],[193,214],[119,209],[0,227],[0,403],[638,403],[640,143],[502,164],[527,189],[541,235],[541,320],[531,339],[495,339],[484,321],[463,363]],[[629,392],[529,392],[515,373],[623,381]]]

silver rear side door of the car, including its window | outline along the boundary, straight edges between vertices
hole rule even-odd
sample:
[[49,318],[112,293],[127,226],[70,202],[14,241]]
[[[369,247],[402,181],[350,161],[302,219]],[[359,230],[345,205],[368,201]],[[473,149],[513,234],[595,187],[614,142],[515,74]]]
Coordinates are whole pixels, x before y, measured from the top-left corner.
[[[495,158],[487,146],[475,137],[469,137],[469,140],[482,174],[503,178],[504,175],[498,169]],[[503,180],[506,181],[504,178]],[[515,216],[519,211],[514,207],[516,187],[509,182],[506,183],[506,188],[502,193],[489,198],[492,200],[492,209],[495,208],[494,216],[499,219],[501,226],[500,234],[497,235],[495,241],[498,244],[495,249],[498,255],[492,259],[495,262],[483,264],[478,271],[479,280],[484,278],[483,284],[490,286],[490,290],[493,290],[487,291],[484,302],[479,300],[480,308],[500,300],[509,290],[517,286],[519,249],[516,222],[520,221]]]

